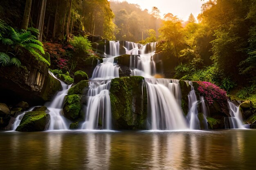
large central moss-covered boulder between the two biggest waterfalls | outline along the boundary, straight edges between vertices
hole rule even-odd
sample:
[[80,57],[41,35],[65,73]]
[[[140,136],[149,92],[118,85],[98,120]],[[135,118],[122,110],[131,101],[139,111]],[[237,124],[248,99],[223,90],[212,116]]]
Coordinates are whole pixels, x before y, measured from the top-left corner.
[[110,100],[114,129],[147,128],[147,93],[144,77],[112,79]]

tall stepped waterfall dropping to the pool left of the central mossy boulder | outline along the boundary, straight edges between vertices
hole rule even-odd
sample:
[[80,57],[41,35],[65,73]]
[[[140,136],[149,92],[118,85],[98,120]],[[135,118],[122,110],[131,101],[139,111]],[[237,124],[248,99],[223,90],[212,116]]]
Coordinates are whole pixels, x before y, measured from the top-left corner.
[[[81,129],[111,129],[111,103],[109,96],[111,79],[119,77],[119,66],[113,57],[119,55],[119,42],[110,41],[110,56],[98,64],[89,82],[88,102],[85,106],[85,121]],[[104,61],[104,60],[103,60]]]

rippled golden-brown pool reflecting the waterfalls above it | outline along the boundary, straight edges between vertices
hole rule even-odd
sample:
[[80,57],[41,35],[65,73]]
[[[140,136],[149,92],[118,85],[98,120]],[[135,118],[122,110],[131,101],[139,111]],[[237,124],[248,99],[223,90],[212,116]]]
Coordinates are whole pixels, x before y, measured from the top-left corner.
[[0,132],[1,170],[245,170],[256,130]]

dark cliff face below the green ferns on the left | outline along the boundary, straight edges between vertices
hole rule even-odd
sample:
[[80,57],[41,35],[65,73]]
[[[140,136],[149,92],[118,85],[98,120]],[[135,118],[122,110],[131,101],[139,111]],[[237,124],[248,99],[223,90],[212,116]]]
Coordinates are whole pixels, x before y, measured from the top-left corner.
[[45,63],[26,51],[20,53],[19,59],[20,67],[0,67],[0,102],[14,105],[25,101],[37,105],[49,101],[61,89],[61,83],[49,75]]

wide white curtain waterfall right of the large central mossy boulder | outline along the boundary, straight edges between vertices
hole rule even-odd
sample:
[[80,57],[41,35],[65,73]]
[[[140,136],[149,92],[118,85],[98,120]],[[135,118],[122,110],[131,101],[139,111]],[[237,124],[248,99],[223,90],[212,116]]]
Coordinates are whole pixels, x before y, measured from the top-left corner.
[[151,130],[185,130],[181,107],[168,88],[170,79],[145,78],[148,92],[148,113]]

